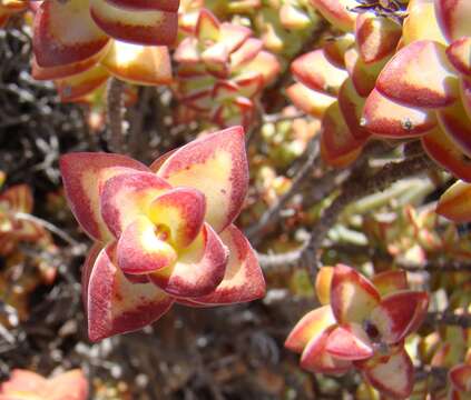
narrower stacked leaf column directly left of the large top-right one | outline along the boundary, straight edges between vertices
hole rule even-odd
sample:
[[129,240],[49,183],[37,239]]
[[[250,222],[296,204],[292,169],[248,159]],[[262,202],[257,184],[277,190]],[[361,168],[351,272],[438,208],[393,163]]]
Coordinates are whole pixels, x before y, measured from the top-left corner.
[[342,33],[294,60],[291,70],[297,82],[286,93],[297,108],[322,120],[324,160],[345,167],[371,137],[362,119],[363,107],[395,52],[402,27],[374,12],[352,12],[355,1],[312,3]]

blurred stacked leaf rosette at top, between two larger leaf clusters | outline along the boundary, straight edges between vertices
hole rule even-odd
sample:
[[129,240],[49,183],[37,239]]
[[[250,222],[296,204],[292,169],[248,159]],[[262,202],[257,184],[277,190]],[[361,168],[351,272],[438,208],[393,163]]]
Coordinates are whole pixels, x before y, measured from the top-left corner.
[[218,127],[251,123],[258,94],[279,70],[276,57],[251,36],[246,27],[199,11],[193,33],[174,57],[175,92],[184,107]]

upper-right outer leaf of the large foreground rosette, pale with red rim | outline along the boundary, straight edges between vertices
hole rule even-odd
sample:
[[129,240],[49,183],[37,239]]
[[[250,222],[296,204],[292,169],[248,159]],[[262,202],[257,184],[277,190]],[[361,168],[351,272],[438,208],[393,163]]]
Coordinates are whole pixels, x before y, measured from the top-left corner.
[[241,211],[248,186],[247,169],[244,130],[233,127],[181,147],[157,174],[173,186],[204,193],[206,221],[220,232]]

